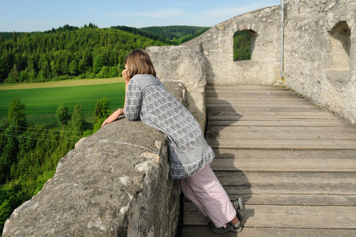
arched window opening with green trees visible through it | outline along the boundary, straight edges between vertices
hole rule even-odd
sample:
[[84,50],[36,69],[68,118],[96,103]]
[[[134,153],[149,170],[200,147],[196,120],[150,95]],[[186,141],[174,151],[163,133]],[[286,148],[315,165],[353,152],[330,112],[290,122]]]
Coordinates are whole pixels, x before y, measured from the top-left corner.
[[240,30],[234,34],[234,61],[250,60],[257,34],[252,30]]

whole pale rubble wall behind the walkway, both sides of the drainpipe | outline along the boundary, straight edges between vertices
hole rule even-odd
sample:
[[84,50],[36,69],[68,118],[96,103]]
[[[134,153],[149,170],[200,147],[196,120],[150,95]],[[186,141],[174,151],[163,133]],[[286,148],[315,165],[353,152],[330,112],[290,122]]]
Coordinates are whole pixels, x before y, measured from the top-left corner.
[[[182,45],[205,55],[208,85],[283,84],[356,124],[356,0],[284,2],[284,78],[279,6],[232,17]],[[240,30],[251,36],[251,60],[233,61]]]

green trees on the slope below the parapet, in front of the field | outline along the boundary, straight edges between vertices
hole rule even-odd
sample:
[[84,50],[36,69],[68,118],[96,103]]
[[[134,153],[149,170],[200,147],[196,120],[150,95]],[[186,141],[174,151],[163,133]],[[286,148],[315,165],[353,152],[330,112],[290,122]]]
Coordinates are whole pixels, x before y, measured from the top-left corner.
[[63,125],[72,120],[72,129],[61,132],[27,123],[26,105],[19,98],[12,99],[7,117],[0,121],[0,235],[14,209],[36,195],[54,175],[59,159],[80,138],[99,130],[110,114],[109,104],[105,97],[96,103],[93,131],[85,131],[82,105],[76,104],[68,115],[68,108],[60,104],[53,111],[58,122]]

